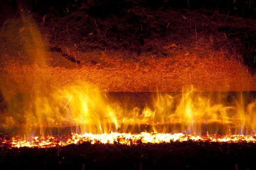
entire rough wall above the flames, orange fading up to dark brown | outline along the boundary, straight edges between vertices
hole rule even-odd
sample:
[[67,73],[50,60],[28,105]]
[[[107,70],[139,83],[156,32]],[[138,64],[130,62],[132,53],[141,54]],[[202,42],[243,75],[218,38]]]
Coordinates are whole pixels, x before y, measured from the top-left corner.
[[17,38],[28,25],[6,20],[0,78],[8,90],[29,93],[37,85],[77,81],[112,92],[181,91],[190,85],[201,91],[256,90],[254,58],[248,64],[244,57],[253,52],[255,20],[135,5],[102,17],[91,8],[64,17],[33,14],[49,47],[42,66]]

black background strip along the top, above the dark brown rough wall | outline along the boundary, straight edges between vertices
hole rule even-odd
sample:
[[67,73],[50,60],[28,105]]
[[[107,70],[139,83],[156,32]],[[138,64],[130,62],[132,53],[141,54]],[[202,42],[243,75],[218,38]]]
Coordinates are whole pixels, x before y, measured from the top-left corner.
[[54,12],[65,15],[84,7],[92,15],[108,17],[129,6],[159,9],[207,9],[237,17],[256,18],[256,2],[253,0],[1,0],[0,23],[6,18],[18,17],[19,10],[39,12],[42,15]]

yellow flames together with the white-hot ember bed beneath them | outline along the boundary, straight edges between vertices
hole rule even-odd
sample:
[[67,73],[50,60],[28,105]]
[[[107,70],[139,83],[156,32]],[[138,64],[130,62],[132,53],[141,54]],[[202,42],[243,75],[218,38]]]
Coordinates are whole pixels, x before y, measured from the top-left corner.
[[56,147],[82,142],[136,145],[256,140],[255,100],[246,102],[241,95],[225,102],[194,88],[177,95],[156,93],[152,98],[145,107],[125,106],[86,84],[22,96],[21,101],[8,103],[0,127],[12,138],[0,141],[12,147]]

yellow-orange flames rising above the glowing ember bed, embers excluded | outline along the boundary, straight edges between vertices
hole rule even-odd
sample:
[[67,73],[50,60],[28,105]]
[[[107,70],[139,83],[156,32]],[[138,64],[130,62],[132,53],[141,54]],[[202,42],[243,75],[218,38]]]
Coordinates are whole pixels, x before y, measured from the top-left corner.
[[201,135],[207,131],[220,135],[249,135],[256,129],[255,101],[247,104],[241,100],[216,103],[194,88],[173,96],[158,93],[152,101],[144,108],[125,108],[110,99],[108,93],[79,83],[53,88],[51,93],[21,96],[10,101],[0,127],[5,130],[20,127],[16,135],[26,136],[47,135],[52,133],[50,129],[63,127],[73,128],[72,132],[75,127],[76,133],[93,134],[158,132]]

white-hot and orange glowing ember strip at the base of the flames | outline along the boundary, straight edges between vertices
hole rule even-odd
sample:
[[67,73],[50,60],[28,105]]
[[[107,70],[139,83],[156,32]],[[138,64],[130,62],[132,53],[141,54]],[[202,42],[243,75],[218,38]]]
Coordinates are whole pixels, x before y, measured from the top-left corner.
[[140,133],[140,134],[125,134],[125,133],[110,133],[110,134],[72,134],[63,140],[57,137],[47,136],[33,137],[31,140],[20,140],[12,138],[11,140],[1,139],[2,146],[11,147],[57,147],[66,146],[70,144],[80,144],[89,142],[91,144],[122,144],[122,145],[138,145],[142,143],[170,143],[170,142],[183,142],[183,141],[207,141],[207,142],[253,142],[256,143],[256,136],[249,135],[231,135],[231,136],[193,136],[185,134],[160,134],[160,133]]

